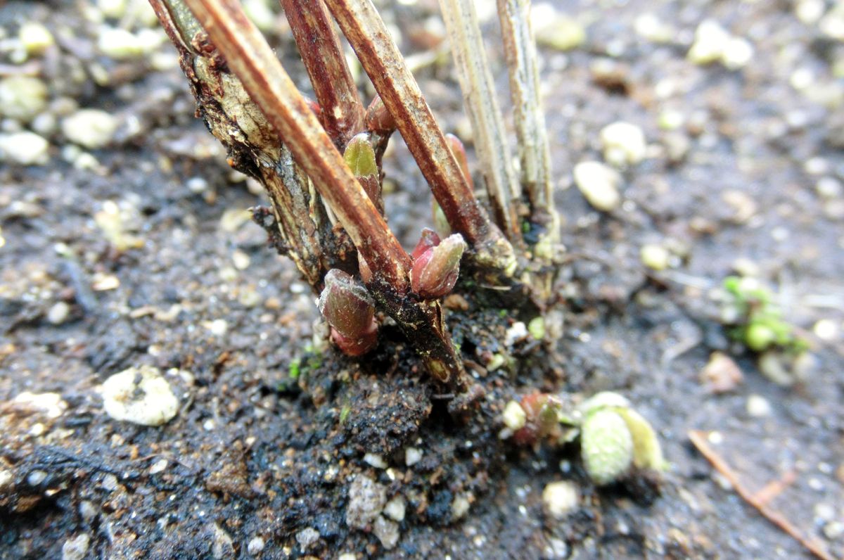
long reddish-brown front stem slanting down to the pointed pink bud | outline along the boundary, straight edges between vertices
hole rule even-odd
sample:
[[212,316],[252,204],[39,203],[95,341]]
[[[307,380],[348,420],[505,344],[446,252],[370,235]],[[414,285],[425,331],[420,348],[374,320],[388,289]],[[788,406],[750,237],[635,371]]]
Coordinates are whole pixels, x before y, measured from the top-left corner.
[[184,0],[295,160],[337,215],[372,272],[408,283],[410,258],[236,0]]

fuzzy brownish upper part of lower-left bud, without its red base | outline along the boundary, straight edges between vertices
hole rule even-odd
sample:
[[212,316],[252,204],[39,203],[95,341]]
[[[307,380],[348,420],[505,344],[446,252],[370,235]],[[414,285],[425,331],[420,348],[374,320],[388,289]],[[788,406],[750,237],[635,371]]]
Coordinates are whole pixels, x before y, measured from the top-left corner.
[[370,333],[375,320],[375,302],[369,292],[338,269],[331,269],[325,275],[319,311],[339,334],[353,340]]

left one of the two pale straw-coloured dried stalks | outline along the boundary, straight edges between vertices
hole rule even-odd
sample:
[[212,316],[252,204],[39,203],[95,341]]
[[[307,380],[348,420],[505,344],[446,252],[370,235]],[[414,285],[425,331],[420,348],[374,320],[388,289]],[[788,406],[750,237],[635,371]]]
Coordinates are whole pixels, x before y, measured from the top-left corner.
[[522,193],[513,171],[504,117],[495,98],[474,2],[440,0],[440,8],[495,220],[511,243],[521,244],[522,228],[514,203],[521,200]]

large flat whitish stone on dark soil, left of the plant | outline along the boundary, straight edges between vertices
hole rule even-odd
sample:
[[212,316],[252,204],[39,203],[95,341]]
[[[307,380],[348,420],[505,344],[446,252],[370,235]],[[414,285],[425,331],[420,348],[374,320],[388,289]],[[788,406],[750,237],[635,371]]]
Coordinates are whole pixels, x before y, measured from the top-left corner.
[[179,400],[157,367],[130,367],[102,384],[106,414],[119,421],[161,426],[179,411]]

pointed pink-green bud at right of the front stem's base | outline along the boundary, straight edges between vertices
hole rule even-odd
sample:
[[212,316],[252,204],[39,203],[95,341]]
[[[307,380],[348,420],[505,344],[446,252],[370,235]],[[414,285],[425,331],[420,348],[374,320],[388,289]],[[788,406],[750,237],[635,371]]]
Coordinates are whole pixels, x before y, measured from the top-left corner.
[[460,258],[465,250],[466,242],[459,233],[425,250],[410,269],[411,289],[425,299],[436,299],[452,291],[460,274]]

